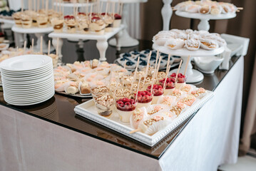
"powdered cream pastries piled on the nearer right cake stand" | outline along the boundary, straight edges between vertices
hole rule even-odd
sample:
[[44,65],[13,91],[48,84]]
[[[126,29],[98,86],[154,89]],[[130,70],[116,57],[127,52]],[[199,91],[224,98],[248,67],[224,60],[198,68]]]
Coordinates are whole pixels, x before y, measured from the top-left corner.
[[165,46],[170,50],[185,48],[188,51],[198,51],[198,49],[212,51],[227,45],[218,33],[193,31],[191,29],[159,31],[153,36],[153,43],[156,43],[158,46]]

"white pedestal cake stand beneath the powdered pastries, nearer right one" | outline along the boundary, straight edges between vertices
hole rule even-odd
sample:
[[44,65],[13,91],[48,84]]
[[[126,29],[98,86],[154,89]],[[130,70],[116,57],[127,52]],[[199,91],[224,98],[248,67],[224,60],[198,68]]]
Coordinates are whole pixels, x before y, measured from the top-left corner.
[[[180,73],[184,73],[185,65],[188,61],[188,56],[190,56],[190,61],[188,61],[188,68],[187,68],[187,83],[197,83],[199,81],[203,81],[203,73],[192,69],[191,59],[196,56],[215,56],[224,51],[224,47],[217,48],[213,51],[207,51],[204,49],[199,49],[198,51],[188,51],[187,48],[180,48],[178,50],[170,50],[165,48],[165,46],[158,46],[157,44],[153,43],[153,49],[159,50],[162,53],[167,53],[172,56],[180,56],[183,59],[183,64],[180,68]],[[170,71],[171,73],[176,73],[177,69]]]

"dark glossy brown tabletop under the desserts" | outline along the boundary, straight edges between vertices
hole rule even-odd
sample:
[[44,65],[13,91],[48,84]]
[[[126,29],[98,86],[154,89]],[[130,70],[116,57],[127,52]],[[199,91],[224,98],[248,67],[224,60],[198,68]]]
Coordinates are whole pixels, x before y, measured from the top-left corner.
[[[86,60],[99,58],[95,43],[96,41],[86,41],[84,43],[85,47],[83,52],[76,51],[76,43],[64,41],[62,48],[63,62],[73,63],[77,60],[77,58],[81,58],[81,56],[84,56]],[[118,58],[119,53],[134,50],[142,51],[146,48],[151,48],[151,46],[151,41],[140,41],[139,46],[134,46],[131,48],[121,48],[121,51],[118,53],[115,47],[109,46],[106,57],[109,63],[113,63],[113,61]],[[90,49],[90,51],[86,51],[86,49]],[[78,54],[76,54],[75,51]],[[232,57],[232,59],[230,60],[230,68],[235,64],[238,58],[239,57]],[[218,84],[222,81],[222,78],[224,78],[227,73],[228,71],[216,70],[213,74],[204,74],[204,80],[200,83],[195,83],[195,86],[203,87],[207,90],[215,90]],[[6,102],[4,101],[3,92],[0,92],[1,105],[6,105],[9,108],[13,108],[14,110],[20,110],[28,115],[33,115],[36,118],[40,118],[42,120],[46,120],[57,125],[61,125],[64,128],[83,133],[93,138],[98,138],[99,140],[110,142],[114,145],[124,147],[134,152],[139,152],[140,154],[147,155],[148,157],[153,157],[155,159],[159,159],[163,155],[165,150],[168,149],[168,147],[172,144],[175,138],[180,133],[182,133],[185,125],[191,119],[193,119],[194,115],[196,115],[196,113],[191,115],[188,120],[186,120],[182,125],[180,125],[177,129],[175,129],[172,133],[170,133],[154,147],[148,147],[147,145],[143,145],[142,143],[137,142],[131,138],[127,138],[126,136],[121,135],[116,131],[110,130],[102,125],[93,123],[91,120],[76,115],[73,110],[75,106],[90,99],[91,98],[73,98],[66,95],[55,94],[53,98],[47,100],[44,103],[26,107],[19,107],[6,104]]]

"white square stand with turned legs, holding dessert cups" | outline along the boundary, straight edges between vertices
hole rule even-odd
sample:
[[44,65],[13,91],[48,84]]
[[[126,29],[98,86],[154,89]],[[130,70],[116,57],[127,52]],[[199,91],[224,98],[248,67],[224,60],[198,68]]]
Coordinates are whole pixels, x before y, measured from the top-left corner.
[[[81,33],[66,33],[64,30],[63,33],[50,33],[48,36],[53,38],[53,46],[57,47],[57,38],[59,39],[58,49],[59,49],[59,56],[58,56],[58,62],[62,63],[62,54],[61,54],[61,47],[63,44],[63,41],[61,38],[75,38],[76,40],[83,41],[83,40],[96,40],[96,46],[98,48],[98,51],[100,53],[100,61],[106,61],[106,50],[108,48],[108,39],[112,36],[116,36],[116,40],[118,42],[118,45],[116,46],[117,50],[120,51],[121,46],[119,44],[119,32],[123,29],[123,25],[121,25],[119,28],[113,28],[113,31],[104,33],[103,35],[97,35],[95,33],[88,33],[88,34],[81,34]],[[79,48],[83,48],[83,45],[80,45]]]

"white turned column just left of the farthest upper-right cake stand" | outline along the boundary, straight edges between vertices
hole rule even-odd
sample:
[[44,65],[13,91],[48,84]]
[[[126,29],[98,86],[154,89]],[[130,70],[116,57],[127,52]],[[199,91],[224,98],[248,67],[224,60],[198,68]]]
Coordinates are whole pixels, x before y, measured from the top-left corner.
[[163,0],[163,8],[161,9],[161,14],[163,18],[163,31],[170,30],[170,18],[173,15],[173,9],[170,4],[173,0]]

